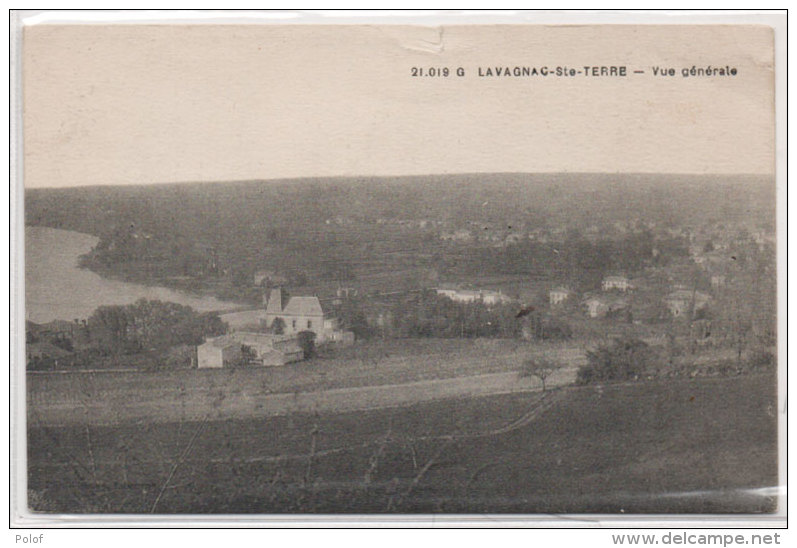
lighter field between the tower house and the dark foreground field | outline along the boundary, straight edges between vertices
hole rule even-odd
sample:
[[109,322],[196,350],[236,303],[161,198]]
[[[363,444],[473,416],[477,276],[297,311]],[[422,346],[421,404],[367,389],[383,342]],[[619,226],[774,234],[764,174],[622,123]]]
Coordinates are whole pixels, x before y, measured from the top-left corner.
[[389,407],[536,389],[535,379],[519,380],[516,373],[532,354],[555,357],[562,370],[550,384],[567,384],[584,360],[575,346],[503,340],[377,341],[341,354],[289,367],[29,374],[28,420],[168,422]]

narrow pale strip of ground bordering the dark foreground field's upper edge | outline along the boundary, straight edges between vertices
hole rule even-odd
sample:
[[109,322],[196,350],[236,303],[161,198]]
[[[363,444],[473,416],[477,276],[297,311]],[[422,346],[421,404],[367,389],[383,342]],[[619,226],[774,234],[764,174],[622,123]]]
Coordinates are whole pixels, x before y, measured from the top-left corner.
[[[547,381],[548,386],[570,384],[575,368],[563,368]],[[470,375],[404,384],[340,388],[318,392],[259,394],[224,389],[196,391],[183,399],[138,400],[119,395],[95,395],[74,403],[38,402],[29,405],[31,425],[114,424],[128,421],[170,422],[180,420],[224,420],[329,413],[400,407],[440,399],[488,396],[540,390],[534,378],[519,378],[516,372]]]

